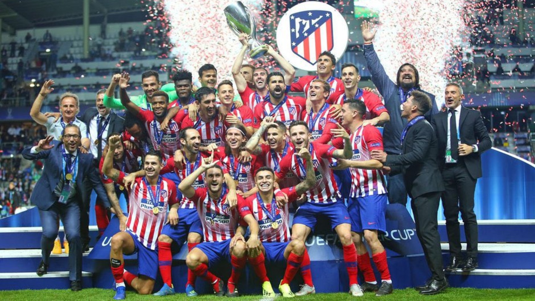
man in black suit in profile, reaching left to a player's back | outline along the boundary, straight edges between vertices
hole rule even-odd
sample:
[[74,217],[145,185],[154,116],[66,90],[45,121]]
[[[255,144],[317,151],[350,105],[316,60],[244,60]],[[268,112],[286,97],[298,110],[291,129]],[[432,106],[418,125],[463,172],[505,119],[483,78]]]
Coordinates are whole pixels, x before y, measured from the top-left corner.
[[401,133],[401,155],[387,155],[373,150],[371,158],[384,163],[384,171],[403,173],[416,223],[416,234],[424,250],[432,277],[420,294],[434,295],[448,287],[442,271],[442,251],[438,234],[437,212],[444,184],[437,163],[438,142],[433,127],[424,118],[431,110],[431,99],[421,91],[412,91],[401,106],[401,117],[408,121]]

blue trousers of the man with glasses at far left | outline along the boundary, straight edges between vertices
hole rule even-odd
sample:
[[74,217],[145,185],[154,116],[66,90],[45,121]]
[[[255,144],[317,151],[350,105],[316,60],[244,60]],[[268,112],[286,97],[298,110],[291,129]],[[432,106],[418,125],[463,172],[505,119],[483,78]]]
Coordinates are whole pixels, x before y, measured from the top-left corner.
[[58,235],[59,219],[63,222],[65,237],[69,246],[69,280],[82,280],[82,241],[80,240],[80,204],[71,200],[67,204],[54,203],[48,210],[39,210],[43,234],[41,256],[48,265],[54,240]]

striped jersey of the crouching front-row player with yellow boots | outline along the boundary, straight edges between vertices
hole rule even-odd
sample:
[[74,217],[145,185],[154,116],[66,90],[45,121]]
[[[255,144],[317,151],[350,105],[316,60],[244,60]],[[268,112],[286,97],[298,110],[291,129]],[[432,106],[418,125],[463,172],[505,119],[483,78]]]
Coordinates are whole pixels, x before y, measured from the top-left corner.
[[[284,188],[281,191],[288,196],[288,202],[295,202],[299,197],[295,191],[295,187]],[[282,209],[273,206],[276,208],[275,221],[273,221],[259,203],[262,202],[262,199],[258,199],[257,196],[257,194],[251,195],[243,202],[238,203],[241,218],[243,219],[247,214],[252,214],[255,217],[260,227],[258,239],[261,242],[289,241],[292,236],[290,234],[291,226],[289,225],[288,204]],[[272,204],[264,203],[264,207],[271,214]],[[277,222],[277,229],[273,228],[273,222]]]

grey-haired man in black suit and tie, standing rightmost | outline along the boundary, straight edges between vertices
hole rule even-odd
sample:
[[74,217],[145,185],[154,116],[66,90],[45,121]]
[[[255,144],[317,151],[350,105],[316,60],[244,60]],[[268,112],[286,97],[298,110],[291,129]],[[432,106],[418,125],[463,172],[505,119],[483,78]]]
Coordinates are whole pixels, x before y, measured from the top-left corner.
[[[491,148],[481,113],[461,105],[463,89],[448,83],[445,91],[448,111],[433,115],[432,125],[438,139],[438,161],[446,190],[442,193],[442,206],[446,217],[450,262],[446,271],[477,268],[477,219],[473,212],[473,195],[478,177],[481,177],[480,153]],[[453,113],[452,113],[453,112]],[[455,114],[455,118],[452,118]],[[467,260],[461,257],[461,231],[459,210],[467,238]]]

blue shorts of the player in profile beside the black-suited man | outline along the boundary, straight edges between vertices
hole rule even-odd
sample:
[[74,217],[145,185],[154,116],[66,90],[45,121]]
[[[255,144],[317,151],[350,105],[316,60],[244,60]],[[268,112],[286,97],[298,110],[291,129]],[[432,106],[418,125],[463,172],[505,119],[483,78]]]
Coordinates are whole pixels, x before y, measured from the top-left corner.
[[351,231],[362,233],[363,230],[386,232],[387,194],[365,197],[351,197],[347,210],[351,217]]

